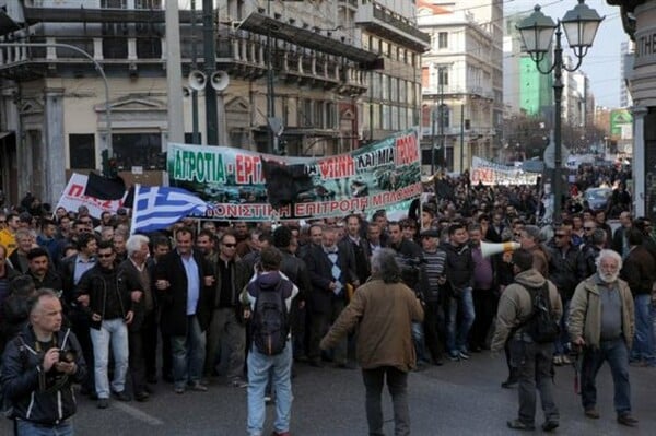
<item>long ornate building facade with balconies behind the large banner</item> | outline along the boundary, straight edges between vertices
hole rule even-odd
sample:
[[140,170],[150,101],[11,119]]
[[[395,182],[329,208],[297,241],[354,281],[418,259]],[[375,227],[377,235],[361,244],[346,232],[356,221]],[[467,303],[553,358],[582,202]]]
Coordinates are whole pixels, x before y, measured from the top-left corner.
[[[27,191],[57,201],[70,173],[99,169],[104,151],[128,182],[164,182],[175,44],[165,1],[0,3],[0,44],[43,45],[0,47],[0,189],[10,201]],[[220,145],[330,155],[417,125],[429,38],[413,1],[214,0],[204,12],[201,0],[179,3],[185,142],[208,144],[215,125]],[[198,73],[204,82],[187,83]]]

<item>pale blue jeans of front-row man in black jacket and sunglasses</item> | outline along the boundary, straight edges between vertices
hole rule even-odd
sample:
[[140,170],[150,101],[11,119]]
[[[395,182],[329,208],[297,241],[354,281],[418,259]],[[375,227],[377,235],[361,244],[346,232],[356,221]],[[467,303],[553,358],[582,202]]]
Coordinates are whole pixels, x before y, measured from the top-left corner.
[[122,392],[126,388],[126,374],[128,372],[128,326],[122,318],[105,319],[101,329],[91,329],[93,343],[94,375],[96,393],[98,398],[109,398],[109,379],[107,366],[109,365],[109,345],[114,356],[114,379],[112,389]]

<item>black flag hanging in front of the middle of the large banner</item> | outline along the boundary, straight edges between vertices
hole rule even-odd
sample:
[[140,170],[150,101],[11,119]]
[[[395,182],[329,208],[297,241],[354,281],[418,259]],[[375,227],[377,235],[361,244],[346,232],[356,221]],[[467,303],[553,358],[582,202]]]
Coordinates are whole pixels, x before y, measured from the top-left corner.
[[305,165],[284,165],[262,158],[262,174],[267,179],[267,197],[273,209],[291,204],[301,192],[314,189],[312,177],[305,173]]

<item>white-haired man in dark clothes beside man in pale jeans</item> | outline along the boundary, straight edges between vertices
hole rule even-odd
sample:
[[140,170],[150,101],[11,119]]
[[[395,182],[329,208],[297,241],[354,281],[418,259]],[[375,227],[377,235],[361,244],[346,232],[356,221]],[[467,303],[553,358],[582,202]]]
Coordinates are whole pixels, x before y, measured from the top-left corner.
[[134,311],[134,318],[128,326],[128,344],[132,391],[137,401],[147,401],[150,397],[145,378],[145,355],[152,343],[152,334],[149,333],[153,328],[156,332],[155,302],[151,291],[150,271],[145,266],[150,256],[149,241],[143,235],[130,236],[126,241],[128,258],[118,267],[119,276],[130,291]]

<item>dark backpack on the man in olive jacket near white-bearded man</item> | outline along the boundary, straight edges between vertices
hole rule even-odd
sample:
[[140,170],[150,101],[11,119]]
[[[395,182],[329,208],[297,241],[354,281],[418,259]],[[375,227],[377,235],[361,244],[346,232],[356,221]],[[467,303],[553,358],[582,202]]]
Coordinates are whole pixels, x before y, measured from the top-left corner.
[[560,325],[551,316],[551,299],[549,298],[549,282],[541,287],[525,287],[530,295],[531,314],[522,323],[523,331],[536,343],[549,343],[560,337]]

